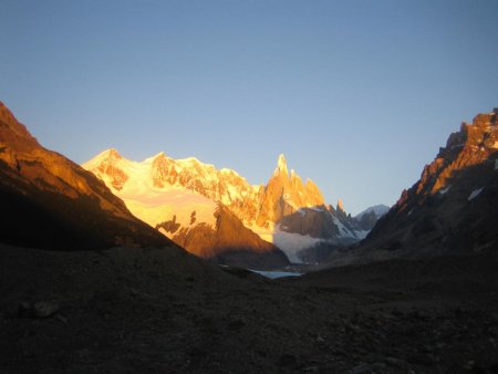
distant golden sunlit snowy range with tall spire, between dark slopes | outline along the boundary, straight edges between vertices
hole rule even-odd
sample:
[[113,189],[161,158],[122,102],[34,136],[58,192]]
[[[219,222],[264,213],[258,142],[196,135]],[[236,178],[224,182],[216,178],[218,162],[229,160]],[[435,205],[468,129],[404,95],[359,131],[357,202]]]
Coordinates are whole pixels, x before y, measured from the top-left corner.
[[82,166],[136,217],[219,263],[268,268],[307,261],[323,242],[345,246],[363,239],[382,210],[356,219],[342,202],[336,209],[325,205],[312,180],[289,173],[283,155],[264,186],[250,185],[232,169],[164,153],[133,162],[111,148]]

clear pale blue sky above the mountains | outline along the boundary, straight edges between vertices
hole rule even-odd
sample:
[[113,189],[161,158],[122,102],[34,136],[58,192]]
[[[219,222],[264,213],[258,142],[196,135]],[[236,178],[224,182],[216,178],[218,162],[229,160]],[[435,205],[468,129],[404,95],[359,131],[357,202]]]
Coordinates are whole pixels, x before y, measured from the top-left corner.
[[498,106],[498,1],[0,0],[0,101],[76,163],[279,154],[352,214]]

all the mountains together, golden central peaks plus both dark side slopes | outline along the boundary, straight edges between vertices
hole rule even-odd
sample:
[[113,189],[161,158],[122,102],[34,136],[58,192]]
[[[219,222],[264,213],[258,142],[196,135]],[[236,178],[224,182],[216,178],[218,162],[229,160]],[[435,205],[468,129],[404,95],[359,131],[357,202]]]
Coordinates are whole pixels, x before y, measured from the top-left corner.
[[497,116],[495,108],[463,123],[388,211],[380,205],[351,217],[289,172],[283,155],[259,186],[164,153],[138,163],[107,149],[81,167],[42,147],[0,103],[0,194],[10,212],[0,235],[50,249],[175,242],[259,269],[487,251],[498,247]]

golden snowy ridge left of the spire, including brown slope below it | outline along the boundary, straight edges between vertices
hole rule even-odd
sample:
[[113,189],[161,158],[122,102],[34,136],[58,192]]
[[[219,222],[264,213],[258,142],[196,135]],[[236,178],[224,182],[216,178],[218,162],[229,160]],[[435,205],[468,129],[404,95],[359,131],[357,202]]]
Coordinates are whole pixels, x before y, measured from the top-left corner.
[[[189,252],[219,263],[269,269],[289,264],[276,246],[243,226],[226,206],[251,215],[259,187],[237,173],[164,153],[135,163],[108,149],[83,165],[138,218]],[[252,210],[251,210],[252,209]],[[242,215],[243,217],[243,215]]]

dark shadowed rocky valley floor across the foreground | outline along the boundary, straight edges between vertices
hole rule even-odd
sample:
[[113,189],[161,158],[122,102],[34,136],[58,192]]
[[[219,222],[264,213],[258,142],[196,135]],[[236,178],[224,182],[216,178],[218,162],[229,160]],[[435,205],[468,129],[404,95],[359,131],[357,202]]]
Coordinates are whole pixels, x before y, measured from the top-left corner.
[[174,249],[0,246],[0,372],[498,373],[497,264],[268,280]]

